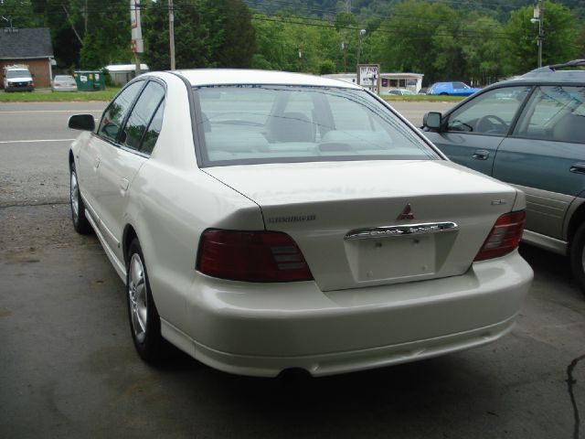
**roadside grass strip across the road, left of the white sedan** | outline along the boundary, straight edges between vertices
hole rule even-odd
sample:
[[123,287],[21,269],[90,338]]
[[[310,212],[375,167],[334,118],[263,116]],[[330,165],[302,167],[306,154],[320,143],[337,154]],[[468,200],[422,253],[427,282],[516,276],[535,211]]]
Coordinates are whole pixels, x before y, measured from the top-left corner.
[[51,89],[35,89],[35,91],[0,92],[0,102],[91,102],[111,101],[120,91],[118,87],[109,87],[103,91],[51,91]]

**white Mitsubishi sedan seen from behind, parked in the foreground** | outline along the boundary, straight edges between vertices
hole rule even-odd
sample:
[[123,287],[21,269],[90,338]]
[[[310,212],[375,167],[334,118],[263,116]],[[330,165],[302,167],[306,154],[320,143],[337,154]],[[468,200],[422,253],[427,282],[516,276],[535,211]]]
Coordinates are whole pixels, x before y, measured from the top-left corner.
[[532,281],[524,194],[371,92],[251,70],[147,73],[69,152],[71,211],[126,284],[134,345],[314,376],[495,341]]

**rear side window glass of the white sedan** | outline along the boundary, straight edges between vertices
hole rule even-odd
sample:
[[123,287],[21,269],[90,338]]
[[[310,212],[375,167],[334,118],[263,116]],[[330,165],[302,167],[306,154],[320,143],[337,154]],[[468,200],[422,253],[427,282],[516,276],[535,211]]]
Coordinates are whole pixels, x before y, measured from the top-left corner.
[[[156,109],[164,98],[165,88],[158,82],[150,81],[144,87],[144,91],[134,104],[132,112],[128,117],[128,122],[124,126],[122,145],[135,150],[140,149],[144,133],[153,119],[154,112],[156,112]],[[152,147],[150,151],[152,151]]]

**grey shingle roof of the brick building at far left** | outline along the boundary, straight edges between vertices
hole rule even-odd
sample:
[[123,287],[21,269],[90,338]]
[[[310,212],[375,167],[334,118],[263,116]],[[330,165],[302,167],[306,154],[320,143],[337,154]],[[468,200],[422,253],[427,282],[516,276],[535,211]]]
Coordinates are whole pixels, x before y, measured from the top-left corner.
[[53,56],[48,27],[0,29],[0,59],[35,59]]

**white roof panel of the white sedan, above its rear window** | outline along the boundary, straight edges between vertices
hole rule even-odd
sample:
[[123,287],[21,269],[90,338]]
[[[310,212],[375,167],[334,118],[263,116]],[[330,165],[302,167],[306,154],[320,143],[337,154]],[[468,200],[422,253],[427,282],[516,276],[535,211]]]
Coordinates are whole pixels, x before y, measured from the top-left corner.
[[332,78],[323,78],[321,76],[291,73],[287,71],[198,69],[176,70],[176,73],[185,77],[194,87],[205,85],[271,84],[362,89],[355,84],[343,80],[334,80]]

